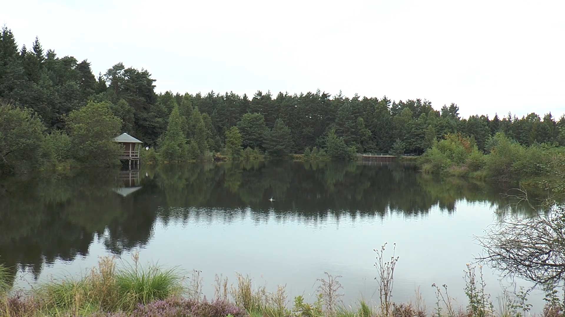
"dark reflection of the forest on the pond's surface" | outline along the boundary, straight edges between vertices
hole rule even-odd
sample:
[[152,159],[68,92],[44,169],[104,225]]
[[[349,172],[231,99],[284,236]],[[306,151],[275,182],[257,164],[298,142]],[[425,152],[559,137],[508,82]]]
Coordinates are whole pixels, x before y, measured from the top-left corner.
[[434,206],[453,213],[462,199],[507,204],[499,184],[441,179],[394,164],[227,162],[146,166],[140,174],[141,188],[125,197],[114,192],[123,186],[118,171],[5,180],[0,261],[37,275],[44,263],[85,256],[94,239],[120,254],[147,244],[158,219],[231,222],[249,213],[255,222],[316,224],[388,213],[425,217]]

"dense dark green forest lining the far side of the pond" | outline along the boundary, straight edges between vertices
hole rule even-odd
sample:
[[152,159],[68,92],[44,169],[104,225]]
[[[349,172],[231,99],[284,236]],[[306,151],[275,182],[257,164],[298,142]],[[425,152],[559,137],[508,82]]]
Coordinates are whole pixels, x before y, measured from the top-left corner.
[[[565,117],[556,120],[551,113],[461,118],[456,104],[437,111],[425,99],[348,98],[341,92],[331,95],[320,90],[276,95],[257,91],[253,96],[214,91],[155,93],[154,83],[149,71],[125,68],[122,63],[95,76],[88,60],[59,57],[45,50],[37,38],[30,49],[20,48],[11,30],[4,27],[0,37],[2,169],[21,165],[18,155],[35,155],[37,162],[68,158],[81,162],[91,157],[89,151],[106,151],[111,158],[117,149],[96,143],[96,138],[120,132],[142,140],[168,161],[221,151],[235,157],[245,148],[269,156],[309,152],[312,147],[342,158],[354,152],[421,154],[434,140],[454,133],[472,138],[479,151],[485,151],[488,139],[497,132],[523,146],[565,144]],[[93,118],[97,122],[90,122]],[[34,139],[40,135],[45,139]],[[41,149],[45,144],[54,148]],[[23,152],[24,147],[28,152]],[[37,151],[29,153],[31,147]]]

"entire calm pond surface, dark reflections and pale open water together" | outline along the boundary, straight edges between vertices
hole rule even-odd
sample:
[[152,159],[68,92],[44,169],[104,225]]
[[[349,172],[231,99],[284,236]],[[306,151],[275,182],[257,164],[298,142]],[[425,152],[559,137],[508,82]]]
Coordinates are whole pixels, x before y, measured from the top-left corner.
[[[512,184],[439,178],[412,165],[379,162],[253,162],[142,166],[0,180],[0,262],[16,287],[84,274],[98,257],[200,270],[214,294],[215,274],[235,272],[290,296],[313,294],[324,272],[341,275],[344,302],[379,301],[375,263],[383,243],[399,256],[393,300],[428,308],[432,283],[466,305],[463,270],[481,252],[473,239],[503,217]],[[270,201],[270,199],[273,201]],[[494,306],[504,287],[484,268]],[[516,280],[518,285],[529,283]],[[542,307],[535,291],[529,302]]]

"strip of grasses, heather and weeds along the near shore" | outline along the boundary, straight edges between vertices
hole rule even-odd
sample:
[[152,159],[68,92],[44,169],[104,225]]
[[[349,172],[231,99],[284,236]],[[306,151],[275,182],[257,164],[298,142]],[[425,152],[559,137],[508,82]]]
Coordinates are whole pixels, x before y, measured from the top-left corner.
[[[524,317],[530,314],[529,291],[503,290],[498,309],[485,292],[482,267],[467,265],[463,279],[466,306],[455,306],[447,285],[432,284],[436,302],[427,308],[419,288],[414,301],[392,300],[394,269],[399,258],[387,256],[386,244],[376,253],[376,291],[379,300],[357,305],[342,301],[341,276],[325,272],[316,280],[311,302],[303,295],[288,298],[286,285],[270,292],[255,285],[249,275],[236,273],[235,283],[216,275],[214,297],[202,293],[199,271],[183,271],[179,267],[164,268],[147,263],[141,265],[139,253],[132,254],[133,264],[118,263],[115,257],[102,257],[94,267],[76,279],[63,276],[38,283],[31,290],[12,290],[8,270],[0,265],[0,315],[6,317],[41,316],[144,316],[144,317]],[[394,245],[396,249],[396,245]],[[477,270],[478,268],[478,270]],[[377,292],[378,291],[378,292]],[[555,287],[546,287],[542,316],[559,316],[563,302]]]

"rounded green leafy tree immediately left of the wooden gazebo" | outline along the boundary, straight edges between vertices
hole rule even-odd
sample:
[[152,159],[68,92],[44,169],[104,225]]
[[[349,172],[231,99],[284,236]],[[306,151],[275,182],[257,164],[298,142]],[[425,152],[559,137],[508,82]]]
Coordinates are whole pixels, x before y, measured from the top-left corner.
[[120,133],[121,122],[108,103],[90,102],[69,113],[66,124],[75,160],[98,166],[118,164],[121,149],[114,137]]

